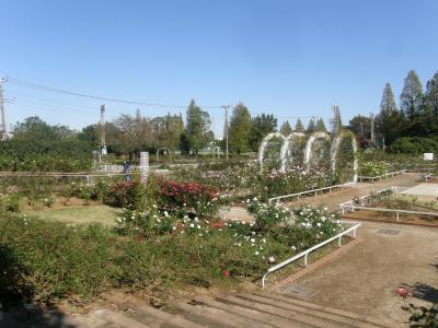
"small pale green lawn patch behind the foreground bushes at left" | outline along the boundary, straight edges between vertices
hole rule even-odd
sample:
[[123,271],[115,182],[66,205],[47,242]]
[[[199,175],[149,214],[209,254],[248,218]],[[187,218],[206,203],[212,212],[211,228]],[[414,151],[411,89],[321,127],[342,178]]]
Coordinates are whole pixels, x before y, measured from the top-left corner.
[[104,225],[114,225],[114,220],[120,213],[120,209],[107,206],[83,206],[68,207],[57,210],[26,211],[28,216],[36,216],[46,220],[59,220],[67,223],[102,223]]

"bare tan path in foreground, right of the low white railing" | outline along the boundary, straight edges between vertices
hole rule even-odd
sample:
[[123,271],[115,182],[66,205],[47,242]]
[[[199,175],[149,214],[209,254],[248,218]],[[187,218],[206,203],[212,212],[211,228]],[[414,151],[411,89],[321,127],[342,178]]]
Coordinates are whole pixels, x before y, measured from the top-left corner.
[[438,303],[438,229],[362,223],[359,237],[362,242],[343,257],[281,292],[387,320],[391,327],[408,317],[396,288],[410,286],[414,296],[407,301],[416,305]]

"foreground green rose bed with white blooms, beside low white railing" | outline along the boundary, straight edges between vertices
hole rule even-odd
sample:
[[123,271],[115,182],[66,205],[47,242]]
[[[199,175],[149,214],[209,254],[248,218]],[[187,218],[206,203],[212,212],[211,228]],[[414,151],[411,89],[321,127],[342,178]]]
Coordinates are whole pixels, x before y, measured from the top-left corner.
[[0,295],[53,303],[87,301],[118,286],[162,296],[181,284],[253,281],[343,229],[324,209],[291,211],[258,198],[247,200],[255,222],[191,218],[160,208],[150,190],[137,195],[116,229],[2,213]]

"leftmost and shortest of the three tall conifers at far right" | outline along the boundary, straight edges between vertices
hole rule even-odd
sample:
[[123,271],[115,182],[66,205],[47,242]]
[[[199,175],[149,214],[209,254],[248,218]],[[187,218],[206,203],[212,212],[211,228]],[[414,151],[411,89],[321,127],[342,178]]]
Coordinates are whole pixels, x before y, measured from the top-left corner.
[[385,144],[390,144],[403,133],[404,116],[395,105],[394,93],[390,83],[387,83],[383,89],[380,113],[376,122],[377,130]]

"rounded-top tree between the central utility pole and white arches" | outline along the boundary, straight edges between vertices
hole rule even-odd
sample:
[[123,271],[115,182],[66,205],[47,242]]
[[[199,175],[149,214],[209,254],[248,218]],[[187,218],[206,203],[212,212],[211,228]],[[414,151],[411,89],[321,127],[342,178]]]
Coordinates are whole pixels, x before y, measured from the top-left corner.
[[251,133],[251,114],[243,103],[239,103],[234,108],[230,119],[228,139],[230,151],[243,153],[249,150]]

